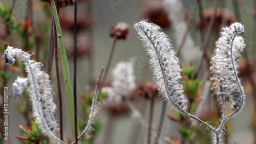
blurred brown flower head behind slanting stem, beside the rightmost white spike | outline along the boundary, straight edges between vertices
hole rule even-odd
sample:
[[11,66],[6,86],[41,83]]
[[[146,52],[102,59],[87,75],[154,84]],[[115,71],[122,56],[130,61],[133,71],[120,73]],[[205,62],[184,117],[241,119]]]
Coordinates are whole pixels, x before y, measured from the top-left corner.
[[[202,16],[203,16],[203,21],[197,21],[195,26],[198,29],[201,30],[207,30],[211,16],[214,14],[214,9],[206,9],[203,11]],[[214,20],[214,25],[212,27],[213,32],[219,32],[221,29],[222,25],[222,19],[226,20],[224,21],[226,23],[226,26],[231,25],[231,23],[236,22],[236,17],[232,14],[232,12],[225,10],[225,9],[219,9],[217,10],[216,17]]]

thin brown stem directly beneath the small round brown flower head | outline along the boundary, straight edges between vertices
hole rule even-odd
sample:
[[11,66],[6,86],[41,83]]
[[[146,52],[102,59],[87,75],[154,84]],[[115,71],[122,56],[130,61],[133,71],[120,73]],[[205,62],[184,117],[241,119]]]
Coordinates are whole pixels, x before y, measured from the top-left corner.
[[112,58],[113,58],[113,55],[114,55],[114,52],[115,52],[115,48],[116,48],[116,41],[117,41],[117,39],[114,38],[113,44],[112,44],[112,47],[111,47],[111,51],[110,51],[110,56],[109,56],[109,59],[108,59],[108,63],[106,64],[106,70],[105,70],[105,73],[103,75],[102,81],[100,83],[99,89],[101,89],[103,87],[103,85],[105,83],[105,80],[106,80],[106,76],[109,73],[110,64],[111,64],[111,61],[112,61]]

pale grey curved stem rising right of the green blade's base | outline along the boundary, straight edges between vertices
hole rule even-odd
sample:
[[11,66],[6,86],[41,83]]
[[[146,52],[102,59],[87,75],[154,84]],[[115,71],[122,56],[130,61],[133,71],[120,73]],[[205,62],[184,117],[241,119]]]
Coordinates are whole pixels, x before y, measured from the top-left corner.
[[[99,84],[100,84],[100,79],[102,76],[104,68],[101,69],[98,80],[97,80],[97,85],[95,85],[95,89],[94,89],[94,96],[93,96],[93,104],[91,106],[91,111],[90,111],[90,115],[89,115],[89,119],[88,119],[88,123],[86,128],[81,132],[81,134],[77,137],[77,140],[79,140],[84,134],[87,134],[87,132],[90,131],[91,129],[91,125],[93,123],[93,113],[95,111],[95,106],[96,106],[96,102],[97,102],[97,98],[98,98],[98,88],[99,88]],[[73,141],[71,144],[74,144],[75,141]]]

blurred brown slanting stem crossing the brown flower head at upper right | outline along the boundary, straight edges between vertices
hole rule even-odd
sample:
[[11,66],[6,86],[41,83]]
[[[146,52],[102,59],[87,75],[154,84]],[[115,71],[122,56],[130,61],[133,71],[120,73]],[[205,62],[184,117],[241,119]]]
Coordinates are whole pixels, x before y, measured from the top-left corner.
[[212,27],[214,26],[214,20],[215,20],[216,14],[217,14],[218,6],[219,6],[219,0],[216,0],[216,4],[215,4],[215,8],[214,8],[214,14],[211,16],[210,24],[208,26],[208,29],[207,29],[207,32],[206,32],[206,35],[205,35],[205,38],[204,38],[204,42],[201,43],[201,50],[203,51],[203,54],[202,54],[202,56],[200,57],[200,59],[198,61],[197,69],[196,69],[196,73],[195,73],[195,78],[198,77],[199,71],[200,71],[200,69],[202,67],[202,64],[203,64],[203,59],[206,56],[207,45],[208,45],[208,42],[209,42]]

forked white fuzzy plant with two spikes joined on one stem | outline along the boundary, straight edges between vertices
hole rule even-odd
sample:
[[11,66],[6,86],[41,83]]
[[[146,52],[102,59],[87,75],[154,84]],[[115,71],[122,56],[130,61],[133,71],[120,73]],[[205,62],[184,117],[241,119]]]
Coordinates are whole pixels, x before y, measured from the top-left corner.
[[[244,39],[238,36],[244,33],[243,25],[233,23],[230,27],[223,28],[221,37],[217,42],[216,56],[212,58],[210,69],[214,75],[211,80],[215,82],[212,89],[219,96],[223,107],[223,116],[217,128],[186,112],[187,101],[183,94],[182,85],[179,84],[181,78],[179,60],[172,50],[171,41],[162,32],[162,29],[144,20],[136,23],[134,29],[146,47],[147,54],[151,57],[150,64],[152,64],[156,82],[165,99],[169,100],[176,109],[211,130],[213,143],[222,143],[226,120],[237,114],[244,105],[245,94],[238,78],[238,65],[236,63],[245,47]],[[225,102],[229,99],[232,100],[231,109],[233,112],[226,115]]]

